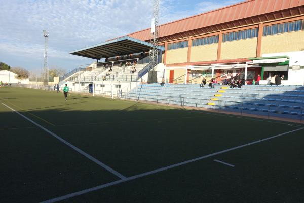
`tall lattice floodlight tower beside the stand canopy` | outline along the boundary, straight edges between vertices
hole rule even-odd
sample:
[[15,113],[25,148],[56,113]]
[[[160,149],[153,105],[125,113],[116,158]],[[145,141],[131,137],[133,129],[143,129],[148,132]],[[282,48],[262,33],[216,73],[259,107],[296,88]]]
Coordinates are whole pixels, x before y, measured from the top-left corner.
[[159,6],[160,0],[154,0],[150,40],[152,46],[149,50],[150,69],[154,69],[154,67],[158,64]]

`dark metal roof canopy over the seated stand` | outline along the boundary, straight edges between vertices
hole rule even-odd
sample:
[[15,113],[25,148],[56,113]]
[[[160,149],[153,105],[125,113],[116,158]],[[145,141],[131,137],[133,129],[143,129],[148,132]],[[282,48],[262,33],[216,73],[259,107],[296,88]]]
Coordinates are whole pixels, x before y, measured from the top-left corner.
[[[101,58],[147,52],[151,46],[152,44],[148,42],[125,36],[106,41],[101,44],[71,51],[69,54],[99,60]],[[157,48],[162,51],[165,50],[165,48],[161,46],[158,46]]]

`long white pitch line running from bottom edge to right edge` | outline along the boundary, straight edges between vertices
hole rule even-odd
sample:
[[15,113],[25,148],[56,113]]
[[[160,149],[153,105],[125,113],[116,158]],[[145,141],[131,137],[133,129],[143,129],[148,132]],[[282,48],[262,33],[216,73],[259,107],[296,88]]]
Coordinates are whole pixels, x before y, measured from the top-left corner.
[[118,181],[113,181],[113,182],[110,182],[110,183],[106,183],[106,184],[99,185],[99,186],[96,186],[96,187],[88,188],[88,189],[81,190],[81,191],[78,191],[78,192],[66,194],[66,195],[63,195],[63,196],[60,196],[60,197],[56,197],[56,198],[53,198],[53,199],[42,201],[41,203],[53,203],[53,202],[61,201],[61,200],[68,199],[68,198],[71,198],[71,197],[79,196],[79,195],[82,195],[82,194],[86,194],[88,192],[96,191],[96,190],[99,190],[99,189],[102,189],[102,188],[105,188],[105,187],[109,187],[109,186],[112,186],[112,185],[117,185],[117,184],[120,184],[120,183],[123,183],[123,182],[126,182],[126,181],[130,181],[130,180],[134,180],[134,179],[137,179],[137,178],[140,178],[140,177],[143,177],[143,176],[156,174],[158,172],[162,172],[162,171],[165,171],[165,170],[168,170],[170,168],[174,168],[174,167],[177,167],[177,166],[180,166],[180,165],[185,165],[187,163],[195,162],[195,161],[198,161],[198,160],[209,158],[211,156],[215,156],[215,155],[218,155],[218,154],[222,154],[222,153],[225,153],[225,152],[229,152],[229,151],[232,151],[232,150],[243,148],[243,147],[246,147],[246,146],[249,146],[249,145],[254,145],[254,144],[257,144],[257,143],[260,143],[260,142],[263,142],[263,141],[267,141],[267,140],[270,140],[270,139],[280,137],[280,136],[284,136],[284,134],[288,134],[288,133],[295,132],[295,131],[302,130],[302,129],[304,129],[304,127],[298,128],[298,129],[295,129],[295,130],[291,130],[291,131],[288,131],[288,132],[283,132],[281,134],[277,134],[276,136],[272,136],[272,137],[269,137],[269,138],[264,138],[264,139],[257,140],[257,141],[247,143],[247,144],[244,144],[244,145],[240,145],[240,146],[237,146],[237,147],[225,149],[225,150],[222,150],[222,151],[218,151],[218,152],[208,154],[208,155],[205,155],[205,156],[201,156],[201,157],[198,157],[198,158],[194,158],[194,159],[191,159],[191,160],[187,160],[187,161],[183,161],[183,162],[176,163],[176,164],[173,164],[173,165],[169,165],[169,166],[166,166],[166,167],[158,168],[158,169],[153,170],[153,171],[138,174],[138,175],[131,176],[131,177],[121,179],[121,180],[118,180]]

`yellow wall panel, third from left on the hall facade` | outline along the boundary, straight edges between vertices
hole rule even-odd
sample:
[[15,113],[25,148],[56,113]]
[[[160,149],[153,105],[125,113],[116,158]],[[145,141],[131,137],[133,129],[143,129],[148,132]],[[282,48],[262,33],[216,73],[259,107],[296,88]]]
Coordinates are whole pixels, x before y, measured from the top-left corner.
[[221,60],[250,58],[256,56],[257,38],[223,42]]

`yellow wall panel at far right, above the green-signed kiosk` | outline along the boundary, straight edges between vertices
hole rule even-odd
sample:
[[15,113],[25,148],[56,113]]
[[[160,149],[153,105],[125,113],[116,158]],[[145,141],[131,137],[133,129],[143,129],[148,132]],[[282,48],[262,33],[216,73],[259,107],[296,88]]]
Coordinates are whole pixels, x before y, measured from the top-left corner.
[[262,37],[262,54],[301,51],[304,49],[304,31]]

